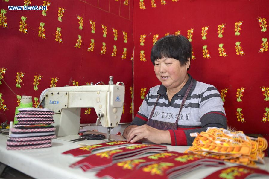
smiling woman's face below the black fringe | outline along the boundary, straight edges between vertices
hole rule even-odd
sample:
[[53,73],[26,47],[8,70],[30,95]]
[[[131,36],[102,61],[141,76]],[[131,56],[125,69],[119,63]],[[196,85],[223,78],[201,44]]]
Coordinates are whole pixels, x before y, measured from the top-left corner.
[[172,89],[184,82],[189,66],[190,60],[186,65],[180,66],[179,60],[163,57],[154,61],[154,72],[162,85]]

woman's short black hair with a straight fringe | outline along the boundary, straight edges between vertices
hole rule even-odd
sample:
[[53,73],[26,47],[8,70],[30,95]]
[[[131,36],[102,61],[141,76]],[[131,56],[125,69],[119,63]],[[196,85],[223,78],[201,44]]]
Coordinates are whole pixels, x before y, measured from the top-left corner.
[[[151,49],[151,62],[156,59],[173,58],[184,66],[192,58],[192,45],[183,35],[168,35],[159,39]],[[189,70],[189,68],[188,68]]]

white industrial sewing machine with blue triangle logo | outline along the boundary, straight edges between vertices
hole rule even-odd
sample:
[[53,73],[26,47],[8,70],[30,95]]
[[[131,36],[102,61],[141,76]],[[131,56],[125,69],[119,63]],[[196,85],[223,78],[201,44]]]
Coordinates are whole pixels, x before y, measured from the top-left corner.
[[109,79],[108,85],[53,87],[41,93],[40,104],[55,112],[57,136],[77,135],[80,108],[94,108],[98,116],[96,125],[101,122],[103,127],[107,127],[110,141],[110,131],[118,126],[121,119],[125,88],[123,82],[113,84],[113,77]]

